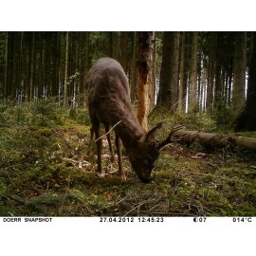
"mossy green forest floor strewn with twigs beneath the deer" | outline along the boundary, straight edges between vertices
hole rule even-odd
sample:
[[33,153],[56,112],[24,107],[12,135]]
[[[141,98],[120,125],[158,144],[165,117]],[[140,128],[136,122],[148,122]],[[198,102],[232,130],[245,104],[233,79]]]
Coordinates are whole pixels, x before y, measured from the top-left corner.
[[[137,179],[124,156],[127,181],[122,183],[105,140],[102,159],[108,176],[95,174],[96,154],[87,155],[86,113],[56,119],[60,113],[29,116],[26,111],[5,109],[0,116],[0,216],[256,215],[255,153],[206,151],[174,142],[160,153],[149,184]],[[168,115],[150,116],[152,124],[166,121],[159,137],[175,123],[206,132],[214,126],[200,116],[171,123]]]

